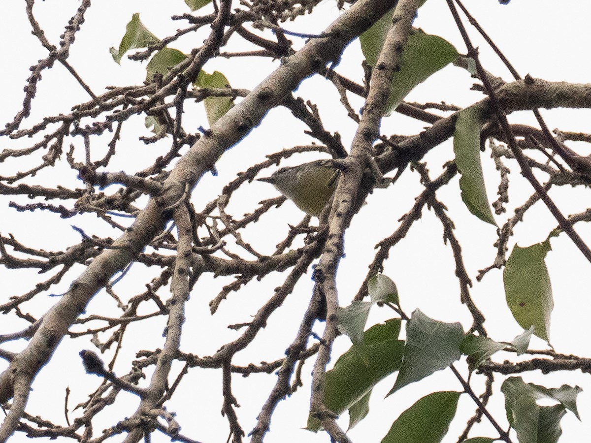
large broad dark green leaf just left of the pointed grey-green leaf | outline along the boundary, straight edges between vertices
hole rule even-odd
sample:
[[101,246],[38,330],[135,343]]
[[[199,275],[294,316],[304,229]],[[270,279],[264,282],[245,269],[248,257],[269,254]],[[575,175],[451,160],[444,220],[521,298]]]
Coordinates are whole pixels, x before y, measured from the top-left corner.
[[[402,361],[404,341],[398,340],[400,319],[377,324],[363,334],[363,344],[351,347],[326,373],[324,405],[337,415],[352,408],[380,380],[395,372]],[[356,348],[363,348],[363,358]],[[358,412],[354,412],[356,419]],[[318,431],[320,421],[312,415],[306,429]]]

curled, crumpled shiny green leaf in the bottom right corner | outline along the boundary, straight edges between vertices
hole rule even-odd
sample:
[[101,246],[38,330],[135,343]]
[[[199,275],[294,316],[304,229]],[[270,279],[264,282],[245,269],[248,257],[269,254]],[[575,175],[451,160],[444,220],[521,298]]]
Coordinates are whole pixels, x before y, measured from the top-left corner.
[[[505,410],[509,425],[517,432],[519,443],[555,442],[560,437],[561,409],[568,409],[577,418],[576,398],[579,386],[563,385],[557,389],[533,383],[525,383],[521,377],[509,377],[501,386],[505,395]],[[560,403],[560,408],[538,406],[535,400],[551,399]],[[547,438],[540,439],[541,437]]]

